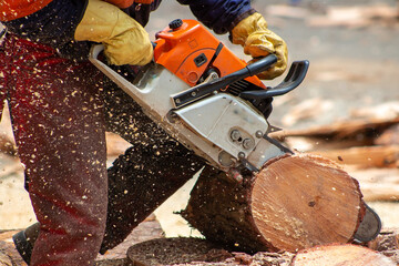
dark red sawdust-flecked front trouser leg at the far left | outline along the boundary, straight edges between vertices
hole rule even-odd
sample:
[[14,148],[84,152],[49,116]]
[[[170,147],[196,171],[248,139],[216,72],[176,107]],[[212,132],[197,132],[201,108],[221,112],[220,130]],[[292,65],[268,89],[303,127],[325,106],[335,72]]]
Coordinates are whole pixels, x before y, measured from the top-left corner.
[[62,59],[49,47],[11,34],[0,44],[1,103],[10,105],[41,224],[31,265],[92,265],[99,253],[108,181],[98,78],[89,62]]

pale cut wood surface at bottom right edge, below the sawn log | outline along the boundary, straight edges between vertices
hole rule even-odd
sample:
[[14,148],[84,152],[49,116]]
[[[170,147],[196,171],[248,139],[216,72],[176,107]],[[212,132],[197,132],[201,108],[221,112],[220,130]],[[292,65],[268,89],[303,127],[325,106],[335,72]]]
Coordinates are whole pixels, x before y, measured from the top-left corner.
[[388,257],[356,245],[327,245],[300,250],[291,266],[395,266]]

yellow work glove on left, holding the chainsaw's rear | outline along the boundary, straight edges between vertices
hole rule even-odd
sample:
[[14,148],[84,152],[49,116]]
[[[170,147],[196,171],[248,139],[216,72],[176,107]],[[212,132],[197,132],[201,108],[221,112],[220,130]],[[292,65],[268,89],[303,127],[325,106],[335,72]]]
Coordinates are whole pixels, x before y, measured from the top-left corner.
[[153,58],[153,47],[144,28],[117,7],[101,0],[89,0],[74,38],[103,43],[111,64],[144,65]]

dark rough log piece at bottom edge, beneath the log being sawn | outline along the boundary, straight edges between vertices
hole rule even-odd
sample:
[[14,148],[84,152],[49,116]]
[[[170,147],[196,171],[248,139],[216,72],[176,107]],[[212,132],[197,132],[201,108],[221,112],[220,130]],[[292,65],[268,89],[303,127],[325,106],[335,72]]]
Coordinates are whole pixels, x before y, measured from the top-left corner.
[[[205,239],[172,237],[135,244],[127,250],[126,265],[151,266],[228,266],[228,265],[280,265],[288,266],[291,253],[263,252],[255,255],[229,253]],[[103,266],[103,265],[101,265]]]

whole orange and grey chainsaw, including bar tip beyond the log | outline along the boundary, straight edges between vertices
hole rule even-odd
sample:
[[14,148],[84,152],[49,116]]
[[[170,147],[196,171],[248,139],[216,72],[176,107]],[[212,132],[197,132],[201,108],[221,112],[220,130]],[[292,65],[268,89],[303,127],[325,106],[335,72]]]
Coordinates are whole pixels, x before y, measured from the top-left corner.
[[[174,20],[155,37],[154,60],[134,80],[100,60],[101,44],[92,48],[90,61],[170,135],[233,176],[293,153],[269,136],[276,127],[267,119],[272,99],[303,82],[308,61],[293,62],[283,82],[269,88],[256,74],[276,63],[274,54],[247,64],[195,20]],[[358,242],[375,238],[381,228],[378,215],[366,209]]]

